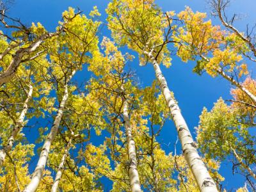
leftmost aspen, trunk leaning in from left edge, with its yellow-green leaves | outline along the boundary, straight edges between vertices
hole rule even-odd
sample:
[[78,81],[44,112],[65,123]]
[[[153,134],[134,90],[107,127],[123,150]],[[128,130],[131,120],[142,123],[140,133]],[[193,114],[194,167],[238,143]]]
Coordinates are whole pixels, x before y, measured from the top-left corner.
[[[36,60],[40,60],[41,63],[45,64],[45,68],[47,68],[45,56],[40,56],[36,58]],[[5,95],[1,100],[1,107],[8,113],[8,116],[12,118],[13,125],[10,126],[13,126],[13,128],[11,132],[6,131],[7,141],[3,142],[3,149],[0,150],[0,166],[2,166],[6,154],[12,150],[14,143],[20,141],[20,132],[26,125],[26,122],[28,122],[29,118],[36,116],[36,113],[38,113],[36,109],[38,106],[36,105],[38,105],[41,100],[33,100],[33,97],[37,97],[38,92],[45,96],[49,94],[48,88],[51,88],[51,86],[47,83],[42,83],[42,74],[45,74],[45,72],[38,71],[39,66],[36,60],[31,61],[31,63],[22,63],[12,81],[6,85],[7,90],[4,91],[4,88],[2,89]],[[12,97],[9,95],[12,95]],[[24,100],[22,100],[23,98]],[[10,103],[12,104],[10,105]],[[17,109],[19,109],[17,106],[19,105],[21,111],[17,111]],[[28,109],[35,109],[35,113],[29,114]],[[16,117],[15,113],[17,112],[19,116]]]

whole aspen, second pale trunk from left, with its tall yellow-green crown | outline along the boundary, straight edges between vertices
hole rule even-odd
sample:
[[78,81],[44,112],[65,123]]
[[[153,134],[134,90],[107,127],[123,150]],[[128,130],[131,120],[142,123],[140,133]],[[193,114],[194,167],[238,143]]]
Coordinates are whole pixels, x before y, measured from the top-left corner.
[[[92,16],[94,14],[99,13],[97,10],[94,10]],[[75,15],[76,17],[74,17]],[[72,8],[64,12],[63,17],[65,18],[64,22],[70,20],[70,18],[74,18],[72,22],[67,24],[67,29],[65,28],[66,31],[68,31],[67,34],[60,36],[55,42],[50,42],[49,47],[47,47],[53,63],[51,73],[53,78],[56,79],[56,87],[58,93],[61,95],[60,107],[54,118],[51,131],[45,139],[31,182],[24,191],[36,191],[36,188],[38,188],[47,162],[47,157],[49,156],[52,141],[54,141],[58,132],[65,104],[67,103],[68,83],[70,83],[76,70],[80,70],[88,59],[86,53],[93,52],[93,49],[97,48],[96,33],[99,22],[93,22],[92,19],[86,18],[84,15],[77,15]],[[70,36],[74,38],[70,38]]]

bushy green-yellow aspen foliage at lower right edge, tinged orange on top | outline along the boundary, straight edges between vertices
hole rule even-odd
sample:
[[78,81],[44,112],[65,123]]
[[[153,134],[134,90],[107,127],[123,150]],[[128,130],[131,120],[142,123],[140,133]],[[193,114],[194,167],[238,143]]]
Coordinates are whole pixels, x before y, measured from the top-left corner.
[[[243,86],[255,93],[252,79],[246,79]],[[233,173],[244,175],[250,189],[255,191],[255,136],[250,134],[250,129],[255,126],[255,106],[239,88],[232,90],[232,94],[234,99],[229,100],[232,102],[230,106],[219,99],[211,111],[204,108],[197,141],[207,159],[228,159],[233,164]]]

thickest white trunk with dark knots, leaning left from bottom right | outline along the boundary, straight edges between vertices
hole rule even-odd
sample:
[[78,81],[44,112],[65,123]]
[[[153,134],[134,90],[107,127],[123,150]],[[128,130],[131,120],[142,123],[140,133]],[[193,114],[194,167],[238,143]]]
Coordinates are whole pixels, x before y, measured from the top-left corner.
[[166,100],[168,108],[170,109],[173,122],[179,135],[179,140],[182,146],[184,157],[189,165],[191,172],[195,177],[198,188],[202,192],[217,192],[218,190],[216,188],[216,184],[211,178],[211,175],[207,171],[205,164],[203,163],[201,157],[196,150],[196,146],[188,129],[188,125],[186,124],[186,121],[184,120],[180,112],[179,106],[175,102],[175,99],[173,98],[168,88],[166,79],[161,72],[159,64],[152,55],[152,52],[144,51],[144,53],[148,56],[148,58],[150,58],[152,64],[154,65],[154,70],[157,80],[160,84],[161,92],[163,93],[164,99]]

